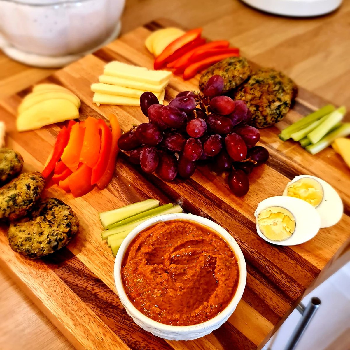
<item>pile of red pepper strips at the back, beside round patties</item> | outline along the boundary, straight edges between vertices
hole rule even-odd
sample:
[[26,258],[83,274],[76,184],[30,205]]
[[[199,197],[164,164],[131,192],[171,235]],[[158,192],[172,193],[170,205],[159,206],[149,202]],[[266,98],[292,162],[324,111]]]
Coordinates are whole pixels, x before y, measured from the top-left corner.
[[183,73],[185,80],[227,57],[238,57],[238,48],[229,48],[229,42],[218,40],[205,43],[201,38],[202,28],[192,29],[171,42],[156,57],[154,69],[174,69],[175,74]]

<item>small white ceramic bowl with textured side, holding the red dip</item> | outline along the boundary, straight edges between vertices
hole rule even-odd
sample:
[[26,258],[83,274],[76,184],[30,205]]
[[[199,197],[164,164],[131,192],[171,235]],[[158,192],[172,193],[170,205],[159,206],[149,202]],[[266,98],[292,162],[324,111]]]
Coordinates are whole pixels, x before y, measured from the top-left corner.
[[[230,301],[228,306],[224,310],[221,311],[218,315],[211,318],[208,321],[203,323],[190,325],[190,326],[172,326],[168,324],[163,324],[160,322],[156,322],[151,320],[151,318],[142,314],[137,308],[133,306],[131,301],[129,300],[125,290],[123,283],[121,281],[121,264],[125,255],[125,252],[131,243],[131,241],[143,230],[147,229],[150,226],[153,226],[156,223],[171,221],[171,220],[187,220],[193,221],[204,226],[208,226],[213,231],[217,232],[219,236],[221,236],[231,247],[232,251],[235,253],[235,256],[238,261],[239,267],[239,281],[236,294],[233,296],[233,299]],[[228,318],[232,315],[233,311],[235,311],[238,302],[240,301],[247,278],[247,269],[245,265],[245,260],[240,250],[237,242],[232,236],[223,229],[220,225],[212,222],[209,219],[205,219],[201,216],[191,215],[191,214],[168,214],[158,216],[152,219],[145,221],[140,224],[130,232],[130,234],[125,238],[123,244],[120,246],[119,251],[117,253],[116,262],[114,264],[114,281],[116,283],[117,292],[119,295],[119,299],[123,306],[126,309],[128,315],[132,317],[132,319],[144,330],[151,332],[153,335],[156,335],[161,338],[169,339],[169,340],[190,340],[203,337],[213,330],[219,328],[224,322],[228,320]]]

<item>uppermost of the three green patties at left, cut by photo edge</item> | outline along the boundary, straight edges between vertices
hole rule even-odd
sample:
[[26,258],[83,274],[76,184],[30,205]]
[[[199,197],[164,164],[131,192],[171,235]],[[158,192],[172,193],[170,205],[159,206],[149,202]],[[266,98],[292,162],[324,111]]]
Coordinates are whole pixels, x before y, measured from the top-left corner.
[[23,157],[13,149],[0,148],[0,186],[16,177],[23,168]]

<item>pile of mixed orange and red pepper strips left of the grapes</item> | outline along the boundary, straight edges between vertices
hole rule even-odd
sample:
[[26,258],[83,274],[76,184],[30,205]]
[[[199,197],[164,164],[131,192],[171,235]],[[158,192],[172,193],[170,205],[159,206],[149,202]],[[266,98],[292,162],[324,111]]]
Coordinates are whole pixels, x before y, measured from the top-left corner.
[[103,119],[88,117],[79,123],[70,121],[57,135],[54,151],[43,170],[51,180],[73,197],[89,193],[95,184],[105,188],[114,175],[121,135],[116,116],[111,114],[111,129]]

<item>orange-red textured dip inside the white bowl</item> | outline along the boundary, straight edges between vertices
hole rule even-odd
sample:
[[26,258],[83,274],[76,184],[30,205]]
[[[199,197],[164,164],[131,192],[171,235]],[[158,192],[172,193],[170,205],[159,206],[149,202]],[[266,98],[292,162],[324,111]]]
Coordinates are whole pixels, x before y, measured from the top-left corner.
[[229,304],[239,269],[235,254],[216,232],[177,220],[156,224],[133,239],[121,278],[144,315],[187,326],[210,320]]

